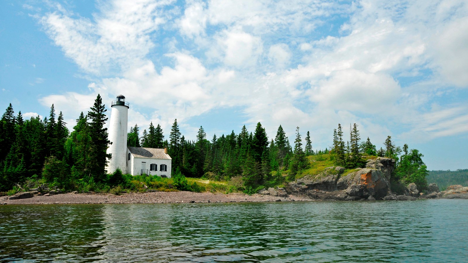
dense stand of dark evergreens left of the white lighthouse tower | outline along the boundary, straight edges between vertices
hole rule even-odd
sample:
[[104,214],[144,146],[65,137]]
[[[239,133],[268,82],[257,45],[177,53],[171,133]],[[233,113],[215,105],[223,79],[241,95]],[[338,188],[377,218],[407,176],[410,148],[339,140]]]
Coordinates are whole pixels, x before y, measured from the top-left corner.
[[102,98],[76,120],[73,132],[65,126],[62,112],[52,104],[49,117],[24,120],[15,116],[10,103],[0,120],[0,190],[9,190],[28,177],[43,177],[64,188],[73,184],[101,182],[106,178],[107,121]]

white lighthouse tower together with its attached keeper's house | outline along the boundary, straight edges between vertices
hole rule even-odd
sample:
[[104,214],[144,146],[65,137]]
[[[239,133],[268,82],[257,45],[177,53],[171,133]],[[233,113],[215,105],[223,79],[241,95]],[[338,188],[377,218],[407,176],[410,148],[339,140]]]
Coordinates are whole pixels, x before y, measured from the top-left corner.
[[113,173],[120,168],[131,175],[159,175],[171,177],[172,159],[168,149],[127,146],[127,124],[129,103],[124,95],[118,95],[111,103],[109,140],[107,153],[110,159],[107,172]]

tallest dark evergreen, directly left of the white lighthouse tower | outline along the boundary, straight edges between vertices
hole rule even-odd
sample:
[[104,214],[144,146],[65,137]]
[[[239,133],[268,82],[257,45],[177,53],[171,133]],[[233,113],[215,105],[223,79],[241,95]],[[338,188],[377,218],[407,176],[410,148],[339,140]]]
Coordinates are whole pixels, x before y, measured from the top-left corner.
[[102,104],[101,95],[97,95],[93,107],[88,112],[88,117],[91,121],[89,124],[89,134],[91,136],[91,145],[89,149],[89,173],[96,182],[103,181],[106,174],[106,150],[110,143],[107,139],[107,128],[104,128],[105,122],[108,120],[104,112],[105,105]]

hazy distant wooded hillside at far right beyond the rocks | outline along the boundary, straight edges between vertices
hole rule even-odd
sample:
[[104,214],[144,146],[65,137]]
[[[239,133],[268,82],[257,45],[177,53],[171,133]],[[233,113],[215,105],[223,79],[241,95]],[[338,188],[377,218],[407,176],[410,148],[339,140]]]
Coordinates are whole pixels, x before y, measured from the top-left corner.
[[468,169],[429,171],[426,179],[428,183],[436,183],[440,190],[444,190],[453,184],[468,186]]

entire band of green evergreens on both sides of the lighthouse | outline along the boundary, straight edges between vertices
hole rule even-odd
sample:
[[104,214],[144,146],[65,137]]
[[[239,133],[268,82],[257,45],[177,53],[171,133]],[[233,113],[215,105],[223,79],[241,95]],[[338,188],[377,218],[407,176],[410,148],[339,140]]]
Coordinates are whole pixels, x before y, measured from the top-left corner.
[[[31,117],[23,120],[21,112],[14,115],[11,104],[0,121],[1,182],[0,190],[11,189],[15,183],[27,177],[40,177],[46,182],[59,184],[73,189],[77,184],[104,182],[106,175],[106,149],[109,145],[108,120],[105,105],[97,95],[93,107],[76,119],[73,131],[65,126],[62,112],[57,116],[54,105],[49,117]],[[140,137],[140,128],[135,124],[127,134],[128,146],[164,148],[172,158],[173,174],[207,179],[230,180],[241,178],[246,188],[254,189],[260,185],[278,185],[292,181],[296,175],[309,168],[311,155],[328,156],[330,161],[345,168],[363,167],[363,155],[378,155],[398,161],[395,178],[405,183],[424,184],[425,170],[423,155],[408,146],[395,146],[388,136],[385,148],[376,150],[369,138],[361,142],[358,126],[350,125],[350,140],[344,139],[343,128],[333,132],[333,146],[330,149],[312,148],[310,132],[302,144],[300,128],[296,127],[295,140],[291,146],[281,125],[276,135],[269,139],[261,123],[254,131],[244,125],[239,133],[207,138],[202,126],[198,129],[196,140],[185,139],[177,119],[174,120],[168,139],[165,139],[160,124],[149,124]],[[400,153],[404,152],[401,157]],[[419,180],[419,181],[418,181]]]

